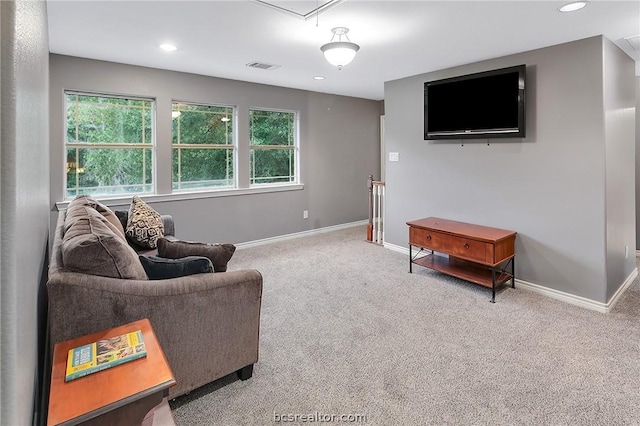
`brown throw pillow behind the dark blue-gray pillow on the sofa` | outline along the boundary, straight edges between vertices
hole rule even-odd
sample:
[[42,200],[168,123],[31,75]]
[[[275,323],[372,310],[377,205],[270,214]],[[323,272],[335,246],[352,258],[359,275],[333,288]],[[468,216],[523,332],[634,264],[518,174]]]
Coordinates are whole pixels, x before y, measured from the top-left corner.
[[170,259],[178,259],[185,256],[204,256],[213,263],[215,272],[225,272],[227,263],[236,251],[233,244],[204,244],[189,241],[169,241],[166,238],[158,239],[158,255]]

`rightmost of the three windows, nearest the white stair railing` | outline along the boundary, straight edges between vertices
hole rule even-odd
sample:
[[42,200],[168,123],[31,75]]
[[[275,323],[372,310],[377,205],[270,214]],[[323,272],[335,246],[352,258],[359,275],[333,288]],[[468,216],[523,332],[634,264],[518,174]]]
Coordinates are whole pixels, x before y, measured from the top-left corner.
[[297,113],[249,110],[250,183],[297,182]]

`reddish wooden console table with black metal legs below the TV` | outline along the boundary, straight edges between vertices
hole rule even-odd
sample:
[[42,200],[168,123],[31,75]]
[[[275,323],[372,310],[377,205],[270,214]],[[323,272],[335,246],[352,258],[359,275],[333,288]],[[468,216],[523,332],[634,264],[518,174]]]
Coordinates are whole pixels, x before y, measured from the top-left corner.
[[[413,272],[415,263],[488,287],[492,290],[492,303],[496,300],[497,285],[511,280],[511,287],[515,288],[516,232],[437,217],[414,220],[407,225],[409,272]],[[415,255],[413,247],[420,249]],[[430,250],[431,254],[419,256],[424,250]]]

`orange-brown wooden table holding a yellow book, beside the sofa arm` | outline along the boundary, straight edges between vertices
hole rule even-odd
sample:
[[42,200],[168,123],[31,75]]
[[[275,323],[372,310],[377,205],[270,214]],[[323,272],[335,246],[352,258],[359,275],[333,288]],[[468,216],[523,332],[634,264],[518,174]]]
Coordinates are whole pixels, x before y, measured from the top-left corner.
[[[142,330],[146,357],[64,381],[70,349],[136,330]],[[47,424],[140,425],[175,383],[148,319],[57,343],[53,350]]]

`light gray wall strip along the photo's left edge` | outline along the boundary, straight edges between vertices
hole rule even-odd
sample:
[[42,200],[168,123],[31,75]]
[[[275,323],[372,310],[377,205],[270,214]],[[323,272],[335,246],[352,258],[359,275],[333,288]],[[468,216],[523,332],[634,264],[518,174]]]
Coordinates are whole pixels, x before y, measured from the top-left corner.
[[28,425],[49,233],[45,3],[0,2],[0,34],[0,424]]

